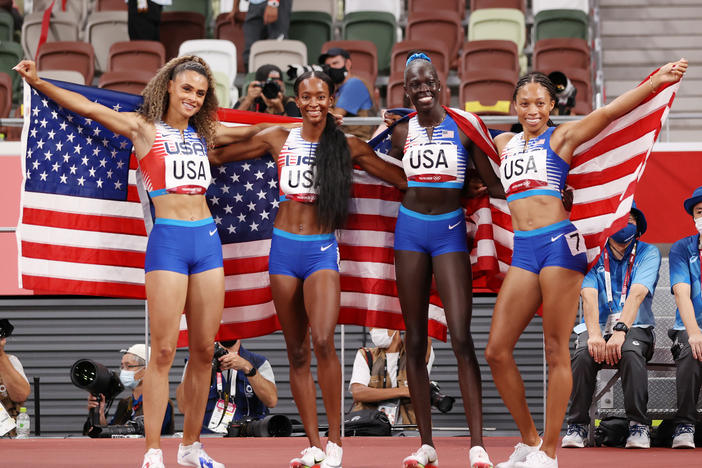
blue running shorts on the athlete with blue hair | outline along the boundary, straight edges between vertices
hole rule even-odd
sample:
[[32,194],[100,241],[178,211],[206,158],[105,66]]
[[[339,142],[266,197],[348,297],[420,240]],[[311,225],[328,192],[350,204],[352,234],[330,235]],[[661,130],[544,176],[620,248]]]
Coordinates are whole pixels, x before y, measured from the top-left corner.
[[423,252],[432,257],[449,252],[468,252],[463,208],[425,215],[400,205],[395,224],[395,250]]

